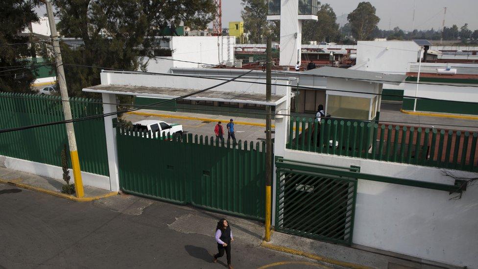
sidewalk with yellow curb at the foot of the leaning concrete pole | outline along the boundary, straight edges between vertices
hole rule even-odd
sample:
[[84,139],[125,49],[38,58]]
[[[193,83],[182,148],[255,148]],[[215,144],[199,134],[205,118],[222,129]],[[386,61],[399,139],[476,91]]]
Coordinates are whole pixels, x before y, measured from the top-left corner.
[[[83,186],[85,196],[78,198],[74,195],[61,193],[62,186],[63,184],[65,184],[65,181],[60,181],[58,179],[34,175],[21,171],[15,171],[3,167],[0,167],[0,183],[11,184],[22,189],[28,189],[78,202],[93,201],[109,196],[118,195],[118,193],[115,192],[110,192],[91,186]],[[70,184],[72,183],[73,178],[70,181]]]

